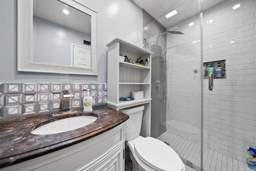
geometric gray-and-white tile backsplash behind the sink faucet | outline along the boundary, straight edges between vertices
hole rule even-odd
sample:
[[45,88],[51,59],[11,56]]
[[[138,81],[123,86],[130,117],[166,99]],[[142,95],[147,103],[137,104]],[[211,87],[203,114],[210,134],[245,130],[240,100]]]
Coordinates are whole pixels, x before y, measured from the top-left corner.
[[107,84],[0,83],[0,118],[58,111],[60,97],[69,90],[70,108],[82,107],[82,99],[90,89],[93,105],[107,101]]

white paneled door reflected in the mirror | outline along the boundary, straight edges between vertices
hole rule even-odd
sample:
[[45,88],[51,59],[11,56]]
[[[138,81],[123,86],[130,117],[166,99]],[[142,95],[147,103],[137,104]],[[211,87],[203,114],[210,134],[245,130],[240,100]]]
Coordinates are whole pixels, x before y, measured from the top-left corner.
[[72,44],[72,61],[73,66],[82,68],[91,68],[91,49],[85,46]]

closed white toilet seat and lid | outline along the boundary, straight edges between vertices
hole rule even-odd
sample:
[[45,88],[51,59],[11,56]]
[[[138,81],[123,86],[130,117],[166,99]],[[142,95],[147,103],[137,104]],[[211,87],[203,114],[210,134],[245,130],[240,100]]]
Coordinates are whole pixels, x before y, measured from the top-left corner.
[[183,162],[178,154],[164,142],[146,137],[134,144],[139,159],[158,171],[181,171]]

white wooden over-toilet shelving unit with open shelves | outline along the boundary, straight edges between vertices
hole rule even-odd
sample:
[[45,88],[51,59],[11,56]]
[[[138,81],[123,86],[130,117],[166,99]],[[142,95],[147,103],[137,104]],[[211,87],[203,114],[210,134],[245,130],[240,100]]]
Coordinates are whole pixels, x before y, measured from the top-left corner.
[[[115,38],[108,47],[108,101],[107,106],[119,110],[136,105],[144,105],[142,120],[142,136],[150,136],[151,111],[151,54],[152,52]],[[123,52],[132,61],[139,58],[146,61],[150,58],[150,66],[142,66],[119,61]],[[144,91],[144,99],[122,101],[120,97],[132,96],[132,91]]]

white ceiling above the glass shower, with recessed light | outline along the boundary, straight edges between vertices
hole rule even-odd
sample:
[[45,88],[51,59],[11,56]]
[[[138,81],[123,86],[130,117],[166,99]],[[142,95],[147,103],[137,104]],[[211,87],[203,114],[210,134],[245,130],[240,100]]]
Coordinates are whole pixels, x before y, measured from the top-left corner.
[[[158,20],[165,28],[190,18],[201,12],[200,0],[133,0],[140,8]],[[212,8],[226,0],[202,0],[202,11]],[[176,10],[178,14],[166,18],[165,15]]]

